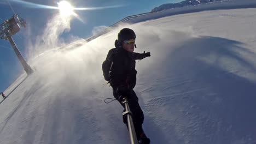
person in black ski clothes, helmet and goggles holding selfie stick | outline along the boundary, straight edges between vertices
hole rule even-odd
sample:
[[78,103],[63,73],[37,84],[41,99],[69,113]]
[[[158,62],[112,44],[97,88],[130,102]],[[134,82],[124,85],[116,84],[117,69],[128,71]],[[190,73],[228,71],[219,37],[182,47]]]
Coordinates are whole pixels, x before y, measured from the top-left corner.
[[[114,49],[109,50],[106,61],[102,64],[104,78],[109,81],[113,88],[115,99],[123,106],[122,100],[126,97],[132,112],[133,124],[139,143],[148,144],[150,140],[142,129],[144,114],[138,103],[138,97],[133,91],[136,85],[135,60],[150,57],[150,52],[135,53],[134,48],[136,35],[132,29],[124,28],[118,33]],[[127,122],[124,119],[124,123]]]

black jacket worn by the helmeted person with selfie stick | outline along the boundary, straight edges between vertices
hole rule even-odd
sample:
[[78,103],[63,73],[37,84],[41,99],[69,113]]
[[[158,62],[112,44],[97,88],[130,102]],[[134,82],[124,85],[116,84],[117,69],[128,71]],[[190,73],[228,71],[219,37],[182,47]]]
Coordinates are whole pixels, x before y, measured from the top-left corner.
[[135,69],[135,60],[143,59],[144,53],[128,52],[123,48],[114,48],[109,50],[112,64],[109,70],[109,83],[114,89],[123,86],[133,89],[136,85],[137,71]]

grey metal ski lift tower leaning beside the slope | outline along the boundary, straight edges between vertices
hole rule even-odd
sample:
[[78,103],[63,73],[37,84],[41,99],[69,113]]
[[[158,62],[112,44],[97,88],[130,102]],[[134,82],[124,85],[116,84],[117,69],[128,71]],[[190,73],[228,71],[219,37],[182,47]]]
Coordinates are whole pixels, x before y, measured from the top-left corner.
[[26,71],[27,75],[32,74],[33,70],[22,57],[18,47],[15,45],[13,41],[13,38],[11,38],[12,35],[20,31],[20,26],[26,27],[26,22],[20,19],[20,17],[18,17],[18,15],[15,14],[9,20],[5,20],[0,26],[0,38],[10,41],[10,44],[13,47],[17,57],[19,58],[22,66],[24,67],[24,70]]

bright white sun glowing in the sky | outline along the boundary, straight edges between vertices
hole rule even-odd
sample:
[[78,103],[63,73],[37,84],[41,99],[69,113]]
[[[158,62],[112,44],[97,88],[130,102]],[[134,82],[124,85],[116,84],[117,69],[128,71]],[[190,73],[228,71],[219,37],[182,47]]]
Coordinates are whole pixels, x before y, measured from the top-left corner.
[[61,16],[67,17],[74,14],[74,7],[67,1],[60,1],[58,3]]

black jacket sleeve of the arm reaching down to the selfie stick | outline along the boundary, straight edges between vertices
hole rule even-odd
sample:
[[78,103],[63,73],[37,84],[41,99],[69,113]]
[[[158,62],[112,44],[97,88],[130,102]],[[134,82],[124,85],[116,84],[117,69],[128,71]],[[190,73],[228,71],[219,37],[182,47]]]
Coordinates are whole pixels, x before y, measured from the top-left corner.
[[123,75],[124,74],[124,64],[123,58],[121,58],[118,53],[112,56],[112,64],[109,70],[109,83],[114,89],[121,85],[124,85]]

